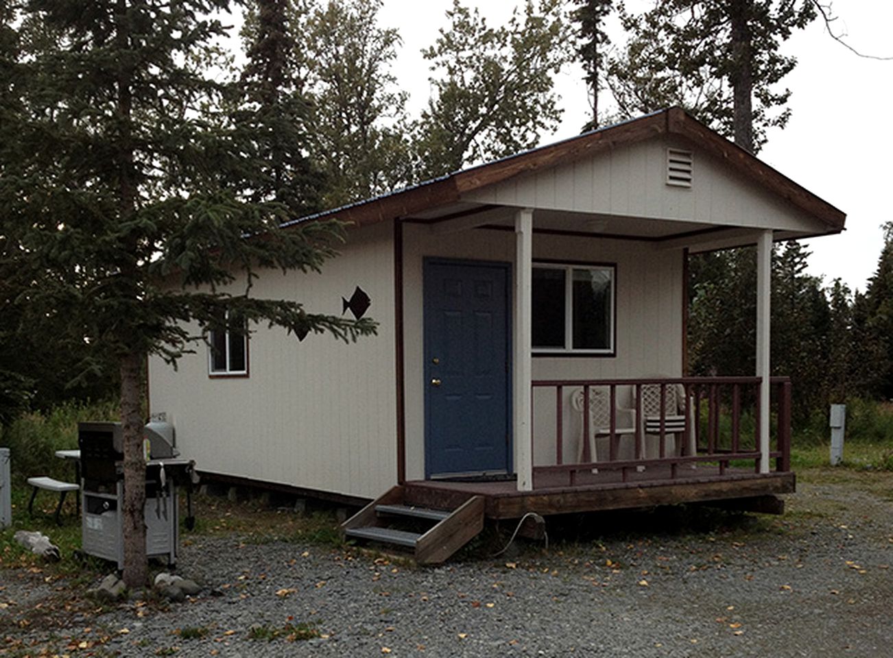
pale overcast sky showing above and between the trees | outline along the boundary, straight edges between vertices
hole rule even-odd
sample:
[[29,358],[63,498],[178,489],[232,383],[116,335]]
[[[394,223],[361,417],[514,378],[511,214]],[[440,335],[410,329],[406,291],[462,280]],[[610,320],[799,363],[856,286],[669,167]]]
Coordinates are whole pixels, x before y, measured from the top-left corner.
[[[505,21],[514,0],[465,0],[477,4],[488,21]],[[627,5],[648,4],[628,0]],[[427,62],[422,47],[430,46],[438,29],[446,25],[445,12],[452,0],[384,0],[383,27],[399,29],[403,37],[395,72],[411,93],[410,110],[428,98]],[[838,31],[847,42],[870,53],[893,56],[893,2],[889,0],[837,0]],[[840,236],[808,241],[812,273],[826,283],[840,278],[851,288],[864,290],[877,265],[882,243],[880,224],[893,221],[889,202],[893,188],[893,133],[888,113],[893,108],[893,62],[857,57],[824,33],[816,21],[797,33],[785,46],[799,60],[784,83],[793,91],[793,115],[784,130],[770,133],[760,157],[790,179],[830,204],[847,212],[847,230]],[[546,144],[579,132],[588,112],[582,71],[569,67],[559,80],[564,120]],[[603,99],[605,103],[607,99]]]

